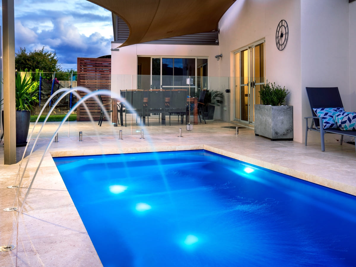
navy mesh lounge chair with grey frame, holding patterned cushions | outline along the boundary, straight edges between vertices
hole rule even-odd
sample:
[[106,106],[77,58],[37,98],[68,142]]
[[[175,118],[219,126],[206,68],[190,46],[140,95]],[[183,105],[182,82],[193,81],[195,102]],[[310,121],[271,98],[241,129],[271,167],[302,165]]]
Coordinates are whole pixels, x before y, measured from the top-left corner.
[[[307,145],[308,130],[320,132],[321,151],[325,151],[324,135],[325,133],[340,134],[340,145],[344,135],[356,137],[356,131],[343,131],[340,129],[324,129],[323,120],[318,117],[313,109],[320,108],[343,108],[342,100],[337,87],[306,87],[309,99],[310,108],[312,109],[312,117],[304,117],[305,119],[305,145]],[[310,127],[308,119],[312,119]],[[356,147],[355,147],[356,148]]]

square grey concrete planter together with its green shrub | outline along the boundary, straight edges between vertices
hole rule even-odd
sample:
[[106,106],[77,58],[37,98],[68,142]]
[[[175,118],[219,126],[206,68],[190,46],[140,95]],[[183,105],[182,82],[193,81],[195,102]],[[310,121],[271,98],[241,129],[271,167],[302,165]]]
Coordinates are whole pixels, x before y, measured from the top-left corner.
[[255,105],[255,135],[275,140],[293,140],[293,106],[287,106],[288,89],[266,82],[260,90],[261,105]]

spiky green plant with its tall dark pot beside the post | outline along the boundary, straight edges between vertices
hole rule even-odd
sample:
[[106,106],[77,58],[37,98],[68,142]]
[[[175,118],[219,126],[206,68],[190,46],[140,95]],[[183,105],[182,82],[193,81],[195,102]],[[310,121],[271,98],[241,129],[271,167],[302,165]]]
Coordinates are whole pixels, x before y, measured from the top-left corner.
[[35,110],[38,102],[36,98],[37,88],[33,88],[31,77],[27,73],[21,77],[16,73],[15,77],[15,101],[16,101],[16,146],[26,146],[28,129],[30,128],[31,112]]

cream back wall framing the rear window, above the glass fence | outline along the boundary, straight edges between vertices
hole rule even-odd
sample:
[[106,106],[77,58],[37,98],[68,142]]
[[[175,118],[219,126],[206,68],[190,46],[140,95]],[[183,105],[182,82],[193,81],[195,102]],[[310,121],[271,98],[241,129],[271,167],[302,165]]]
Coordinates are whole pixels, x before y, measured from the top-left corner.
[[[120,46],[111,43],[111,48]],[[120,89],[136,89],[137,56],[163,57],[208,57],[208,76],[219,76],[219,64],[215,59],[218,46],[205,45],[151,45],[138,44],[120,47],[111,52],[111,91],[119,93]]]

